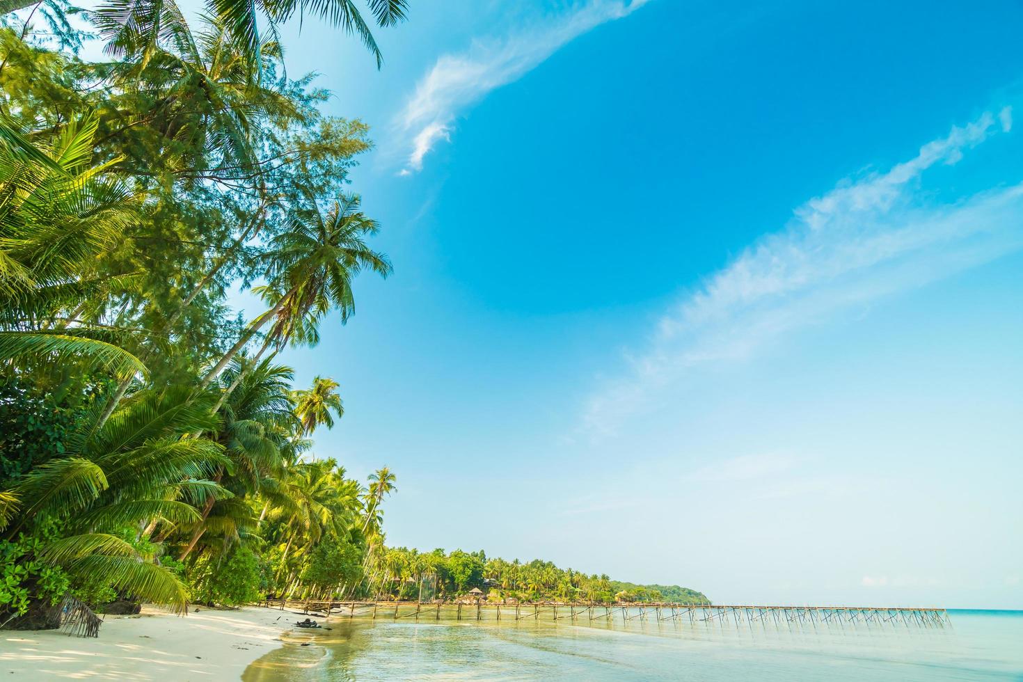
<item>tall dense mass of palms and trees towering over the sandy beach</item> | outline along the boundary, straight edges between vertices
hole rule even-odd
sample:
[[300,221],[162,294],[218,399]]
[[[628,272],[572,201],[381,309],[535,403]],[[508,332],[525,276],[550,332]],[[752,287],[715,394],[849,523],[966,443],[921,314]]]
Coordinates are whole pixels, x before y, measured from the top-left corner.
[[[278,354],[391,272],[348,188],[371,141],[274,40],[312,12],[379,63],[371,27],[405,1],[366,8],[0,3],[0,627],[50,623],[68,592],[369,593],[394,473],[312,455],[340,385],[297,387]],[[232,311],[238,286],[264,312]]]

